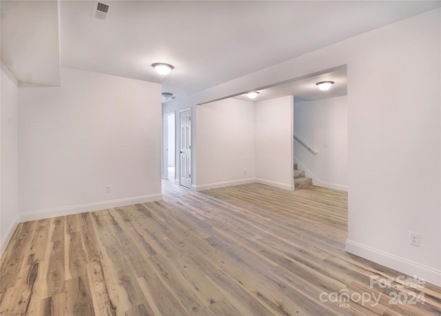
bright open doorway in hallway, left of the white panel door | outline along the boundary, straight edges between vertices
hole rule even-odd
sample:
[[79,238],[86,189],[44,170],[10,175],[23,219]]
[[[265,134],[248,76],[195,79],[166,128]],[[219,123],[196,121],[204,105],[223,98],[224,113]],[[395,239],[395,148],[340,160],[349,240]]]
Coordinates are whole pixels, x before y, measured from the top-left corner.
[[175,115],[174,112],[163,115],[163,179],[174,182],[175,179]]

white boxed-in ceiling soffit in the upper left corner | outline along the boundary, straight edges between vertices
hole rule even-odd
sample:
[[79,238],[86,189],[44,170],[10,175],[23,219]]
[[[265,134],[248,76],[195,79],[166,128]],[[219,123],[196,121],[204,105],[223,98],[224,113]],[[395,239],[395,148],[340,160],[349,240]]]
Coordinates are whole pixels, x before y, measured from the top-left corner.
[[60,84],[57,1],[1,1],[1,61],[22,82]]

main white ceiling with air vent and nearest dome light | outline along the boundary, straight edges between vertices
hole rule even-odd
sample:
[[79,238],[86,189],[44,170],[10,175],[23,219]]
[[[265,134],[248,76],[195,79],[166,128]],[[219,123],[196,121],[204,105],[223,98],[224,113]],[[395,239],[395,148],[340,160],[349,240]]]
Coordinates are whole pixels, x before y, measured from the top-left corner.
[[[1,1],[2,60],[3,34],[17,28],[17,23],[3,23],[8,14],[3,10],[5,2]],[[441,1],[105,3],[110,8],[103,21],[94,17],[96,1],[61,1],[61,66],[160,82],[163,91],[176,97],[441,6]],[[47,32],[20,23],[31,32],[35,50],[47,45]],[[18,45],[8,54],[23,55],[23,47]],[[26,53],[32,63],[42,64],[34,51]],[[171,63],[175,69],[160,77],[150,66],[154,62]]]

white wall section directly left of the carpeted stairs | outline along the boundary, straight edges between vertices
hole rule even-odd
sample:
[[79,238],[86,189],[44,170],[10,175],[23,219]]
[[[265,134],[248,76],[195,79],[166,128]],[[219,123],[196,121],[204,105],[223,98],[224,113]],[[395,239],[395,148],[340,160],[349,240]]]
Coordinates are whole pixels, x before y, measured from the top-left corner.
[[294,97],[256,103],[256,178],[258,183],[294,190]]

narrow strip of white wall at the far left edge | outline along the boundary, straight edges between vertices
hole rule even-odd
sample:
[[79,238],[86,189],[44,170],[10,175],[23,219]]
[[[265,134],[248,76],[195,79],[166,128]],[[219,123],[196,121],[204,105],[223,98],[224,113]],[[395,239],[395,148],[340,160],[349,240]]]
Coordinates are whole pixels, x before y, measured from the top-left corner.
[[1,63],[0,108],[0,255],[19,222],[18,207],[18,112],[17,79]]

